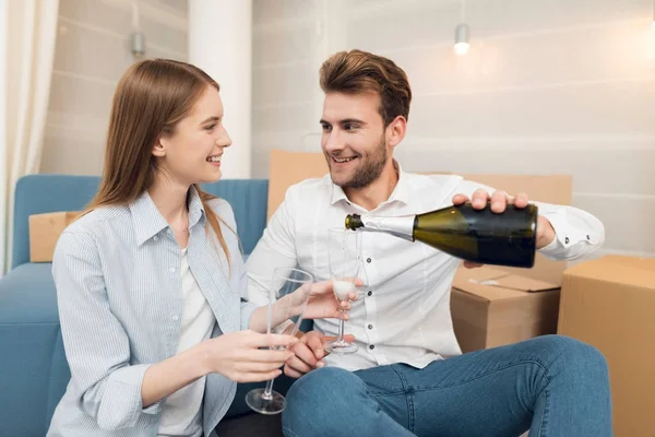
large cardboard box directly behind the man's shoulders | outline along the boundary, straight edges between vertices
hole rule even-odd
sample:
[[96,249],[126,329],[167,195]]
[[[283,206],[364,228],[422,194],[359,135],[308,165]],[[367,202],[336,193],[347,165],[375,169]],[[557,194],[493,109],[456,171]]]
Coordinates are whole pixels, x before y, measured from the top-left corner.
[[[305,179],[322,177],[329,172],[322,153],[271,152],[271,177],[269,182],[269,218],[284,200],[287,188]],[[434,172],[445,173],[445,172]],[[511,194],[526,192],[533,200],[546,203],[570,205],[573,193],[573,179],[570,175],[492,175],[464,174],[465,179],[489,187],[505,190]],[[532,269],[504,268],[516,274],[560,285],[567,263],[546,259],[541,253],[535,257]]]

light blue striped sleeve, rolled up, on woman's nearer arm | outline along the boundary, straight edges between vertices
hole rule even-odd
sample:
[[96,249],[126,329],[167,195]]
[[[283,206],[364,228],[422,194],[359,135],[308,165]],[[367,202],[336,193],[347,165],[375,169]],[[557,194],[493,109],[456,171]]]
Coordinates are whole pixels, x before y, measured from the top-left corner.
[[52,260],[59,318],[71,387],[84,412],[104,429],[133,426],[143,409],[141,386],[148,364],[130,365],[130,341],[111,312],[93,237],[66,232]]

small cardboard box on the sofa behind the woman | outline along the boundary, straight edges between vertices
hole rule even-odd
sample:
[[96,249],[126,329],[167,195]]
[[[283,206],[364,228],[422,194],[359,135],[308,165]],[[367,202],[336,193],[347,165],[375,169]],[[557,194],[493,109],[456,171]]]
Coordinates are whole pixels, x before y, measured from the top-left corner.
[[51,262],[59,236],[82,212],[49,212],[34,214],[29,222],[29,261]]

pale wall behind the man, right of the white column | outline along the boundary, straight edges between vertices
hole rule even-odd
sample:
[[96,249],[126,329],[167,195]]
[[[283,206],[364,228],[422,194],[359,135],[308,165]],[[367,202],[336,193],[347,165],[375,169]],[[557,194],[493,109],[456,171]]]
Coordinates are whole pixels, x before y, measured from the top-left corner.
[[318,68],[340,49],[388,56],[414,92],[396,154],[409,170],[571,174],[604,252],[655,257],[652,0],[255,0],[253,177],[273,147],[319,150]]

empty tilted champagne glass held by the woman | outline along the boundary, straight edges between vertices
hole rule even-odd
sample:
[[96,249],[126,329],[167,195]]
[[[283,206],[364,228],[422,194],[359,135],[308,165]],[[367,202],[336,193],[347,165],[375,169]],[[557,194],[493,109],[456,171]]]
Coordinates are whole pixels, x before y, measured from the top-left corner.
[[[310,273],[299,269],[278,268],[273,272],[273,283],[269,291],[266,332],[275,326],[290,320],[285,333],[296,335],[305,316],[305,308],[314,280]],[[283,349],[283,346],[279,346]],[[278,414],[286,408],[284,395],[273,390],[273,381],[265,388],[253,389],[246,394],[246,403],[261,414]]]

